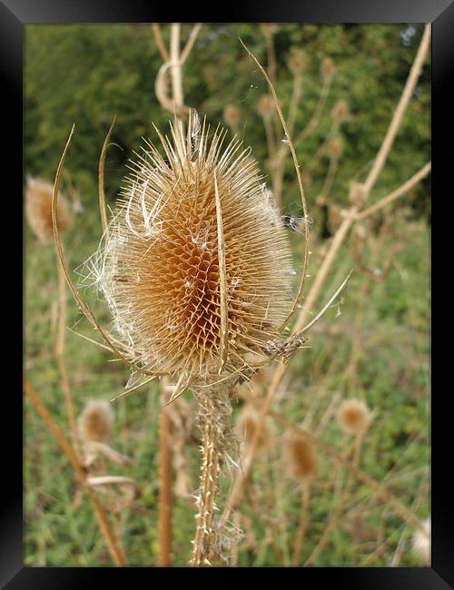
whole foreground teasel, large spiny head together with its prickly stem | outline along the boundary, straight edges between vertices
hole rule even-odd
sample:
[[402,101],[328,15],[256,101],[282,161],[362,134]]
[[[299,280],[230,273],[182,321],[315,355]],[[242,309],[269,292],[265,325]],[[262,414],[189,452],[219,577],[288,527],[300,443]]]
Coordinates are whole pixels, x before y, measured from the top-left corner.
[[[285,123],[283,124],[285,126]],[[175,120],[173,142],[168,142],[161,136],[166,161],[151,145],[148,146],[150,151],[143,151],[134,164],[135,171],[131,182],[123,193],[124,201],[120,204],[119,211],[115,212],[108,231],[104,233],[104,250],[92,261],[92,276],[104,290],[116,319],[115,327],[120,338],[117,339],[97,326],[93,314],[81,302],[82,309],[88,312],[88,318],[104,334],[111,349],[134,371],[143,373],[146,382],[155,374],[170,374],[176,381],[171,400],[181,395],[185,388],[191,387],[199,401],[199,421],[203,432],[202,482],[205,480],[210,483],[202,483],[197,497],[199,514],[192,555],[193,565],[208,565],[210,559],[216,559],[222,554],[222,544],[225,544],[222,531],[216,530],[213,511],[220,465],[235,463],[234,453],[233,460],[229,455],[233,450],[234,440],[230,418],[233,390],[242,380],[251,379],[256,370],[270,359],[288,359],[291,353],[303,344],[304,338],[301,333],[285,338],[281,336],[281,329],[287,327],[297,308],[302,281],[306,276],[304,266],[299,294],[291,306],[288,277],[292,271],[288,265],[284,265],[284,270],[281,269],[278,273],[276,283],[279,284],[281,281],[281,289],[277,292],[282,297],[282,300],[278,301],[277,311],[271,306],[272,295],[275,295],[272,289],[269,292],[265,289],[263,294],[258,293],[253,285],[252,288],[249,286],[249,290],[246,287],[240,288],[242,276],[247,275],[242,275],[247,264],[238,256],[233,257],[234,261],[228,259],[227,253],[232,252],[232,242],[229,241],[225,227],[238,229],[240,226],[241,229],[244,220],[238,222],[238,217],[234,214],[234,199],[233,202],[229,202],[225,197],[225,194],[232,196],[231,187],[229,186],[229,190],[226,191],[225,184],[222,183],[222,173],[225,174],[225,170],[222,170],[222,167],[216,168],[219,160],[222,161],[216,152],[217,143],[221,145],[222,139],[216,134],[210,144],[211,150],[208,150],[204,132],[204,125],[201,129],[198,118],[191,113],[186,134],[183,133],[181,122]],[[290,144],[289,140],[286,140],[285,145],[287,144]],[[238,150],[238,145],[231,144],[226,152],[234,152],[235,149]],[[206,156],[207,152],[208,158],[203,162],[201,155]],[[210,160],[210,157],[212,160],[206,165],[206,160]],[[199,166],[201,160],[205,168]],[[153,166],[150,166],[150,162]],[[170,167],[168,162],[172,162]],[[226,159],[225,166],[231,172],[233,168],[234,178],[234,166],[228,168],[228,163],[232,162]],[[271,220],[271,227],[276,230],[282,229],[282,219],[273,208],[269,193],[260,187],[257,172],[248,152],[243,152],[240,162],[237,163],[238,166],[244,164],[247,172],[242,171],[242,190],[244,186],[248,188],[250,182],[253,186],[250,196],[260,195],[256,211],[261,215],[264,211],[267,222]],[[154,174],[150,172],[151,168],[154,168]],[[197,173],[194,173],[194,170]],[[298,168],[296,170],[298,174]],[[202,176],[203,172],[208,178],[211,175],[211,179],[201,189],[198,174]],[[164,189],[159,184],[163,178],[166,182]],[[194,178],[199,180],[194,181]],[[203,212],[208,211],[207,217],[211,217],[211,223],[207,223],[206,219],[201,223],[202,211],[195,211],[192,217],[192,207],[185,204],[189,201],[193,184],[197,184],[197,199],[202,197]],[[303,199],[303,195],[301,196]],[[233,211],[230,217],[229,205]],[[306,213],[304,201],[303,209]],[[184,222],[179,226],[178,218],[182,212]],[[309,227],[310,218],[306,216],[306,219],[307,225],[304,219],[298,223],[301,223],[303,228]],[[283,221],[289,224],[285,218]],[[291,222],[293,225],[296,223],[293,217]],[[255,222],[248,228],[246,220],[243,227],[246,228],[245,235],[249,235],[248,230],[251,234],[260,233],[262,225]],[[307,229],[305,233],[307,238]],[[128,239],[124,240],[124,234],[128,234]],[[276,234],[279,234],[279,231],[276,231]],[[141,241],[146,243],[146,248],[142,252]],[[135,258],[134,254],[124,256],[124,252],[130,247]],[[251,260],[254,259],[254,253],[252,248]],[[246,262],[248,254],[249,252],[244,255]],[[286,260],[287,255],[288,252],[282,248],[282,261]],[[169,272],[172,263],[165,264],[166,257],[167,262],[176,259],[177,266],[183,262],[183,269],[180,267],[173,273]],[[261,252],[261,255],[255,258],[259,261],[265,259],[266,266],[266,252]],[[238,259],[241,260],[240,264]],[[147,262],[150,261],[158,269],[157,276],[162,277],[161,283],[156,281],[156,285],[152,285],[146,273]],[[275,262],[274,258],[271,266]],[[187,270],[191,268],[196,270],[195,280],[193,276],[188,278]],[[204,281],[202,288],[198,282],[200,273],[203,275],[202,282]],[[168,280],[169,276],[171,280]],[[66,277],[69,277],[67,269]],[[149,289],[146,286],[147,280],[149,285],[152,285]],[[270,284],[273,280],[276,280],[275,276],[271,276]],[[269,287],[268,281],[264,283]],[[133,301],[131,297],[134,290],[135,293],[141,293],[137,295],[138,301]],[[191,314],[185,313],[194,300],[194,291],[195,300],[198,298],[202,303],[195,303]],[[152,314],[146,313],[148,305],[162,300],[164,295],[170,304],[156,310],[156,317],[150,317]],[[173,300],[176,305],[172,305]],[[268,300],[266,305],[263,304],[263,300]],[[242,329],[244,324],[250,329]],[[153,341],[155,334],[159,334],[160,338]],[[176,336],[179,339],[175,338]],[[120,349],[122,345],[123,348]],[[133,386],[128,391],[131,392],[140,385],[142,384]],[[308,503],[308,498],[305,502]]]

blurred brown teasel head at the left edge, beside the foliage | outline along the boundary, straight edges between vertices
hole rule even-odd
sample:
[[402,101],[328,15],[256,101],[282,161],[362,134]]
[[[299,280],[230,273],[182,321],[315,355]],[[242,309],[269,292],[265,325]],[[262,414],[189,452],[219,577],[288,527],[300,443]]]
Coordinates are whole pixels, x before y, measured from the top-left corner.
[[[25,214],[30,228],[40,241],[54,236],[52,229],[52,195],[54,185],[39,178],[27,179],[25,190]],[[58,229],[64,231],[71,226],[72,218],[66,198],[59,193]]]

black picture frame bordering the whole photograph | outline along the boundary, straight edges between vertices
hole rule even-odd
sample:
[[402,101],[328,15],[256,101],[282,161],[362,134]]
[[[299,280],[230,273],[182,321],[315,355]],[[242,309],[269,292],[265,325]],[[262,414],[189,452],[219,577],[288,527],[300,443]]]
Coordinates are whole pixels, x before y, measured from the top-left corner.
[[[204,7],[197,14],[196,6],[165,11],[163,4],[141,3],[136,0],[3,0],[0,2],[0,76],[4,116],[12,123],[12,131],[4,136],[7,142],[4,174],[13,180],[11,194],[5,197],[4,207],[17,202],[13,198],[23,192],[22,177],[22,72],[24,28],[32,23],[134,23],[134,22],[301,22],[301,23],[432,23],[432,192],[435,202],[432,210],[432,415],[431,415],[431,477],[432,477],[432,565],[431,567],[397,568],[280,568],[281,575],[291,573],[301,576],[305,587],[313,584],[329,584],[336,588],[364,588],[380,590],[399,588],[435,590],[454,587],[454,509],[452,487],[449,487],[450,453],[454,448],[449,402],[449,343],[437,344],[434,334],[449,334],[452,311],[449,307],[449,283],[447,275],[453,268],[453,251],[449,243],[452,231],[443,223],[449,223],[449,202],[452,202],[453,165],[452,146],[454,128],[452,123],[453,78],[454,78],[454,3],[452,0],[281,0],[279,3],[265,0],[262,3],[238,3],[236,7],[225,5],[223,15],[212,14]],[[447,146],[447,147],[445,147]],[[5,196],[5,195],[4,195]],[[22,203],[21,203],[22,205]],[[13,209],[13,207],[11,207]],[[442,211],[442,212],[441,212]],[[17,221],[22,228],[22,206],[17,208]],[[452,223],[451,223],[452,224]],[[433,261],[448,256],[448,261]],[[450,262],[450,264],[449,264]],[[20,262],[15,265],[21,268]],[[23,277],[22,277],[23,278]],[[19,280],[19,277],[17,278]],[[451,298],[452,299],[452,298]],[[11,303],[11,302],[10,302]],[[13,314],[12,314],[13,315]],[[13,319],[12,319],[13,320]],[[13,320],[14,321],[14,320]],[[17,333],[17,320],[15,329]],[[18,347],[19,348],[19,347]],[[20,369],[19,369],[20,370]],[[437,388],[438,386],[438,388]],[[452,386],[451,386],[452,387]],[[122,584],[138,576],[155,575],[155,568],[51,568],[25,567],[23,565],[23,489],[20,484],[22,471],[23,399],[19,392],[9,391],[4,397],[3,415],[7,416],[9,430],[4,443],[5,471],[3,491],[5,500],[1,506],[0,523],[0,585],[15,590],[18,588],[88,588],[114,575]],[[5,418],[4,418],[5,419]],[[6,420],[5,420],[6,422]],[[183,569],[184,575],[199,576],[197,570],[171,568],[160,575],[173,577],[173,572]],[[219,568],[204,569],[207,577]],[[227,571],[234,571],[229,568]],[[232,574],[229,574],[229,576]],[[154,578],[155,579],[155,578]],[[153,580],[153,578],[152,578]],[[187,584],[188,578],[185,578]]]

